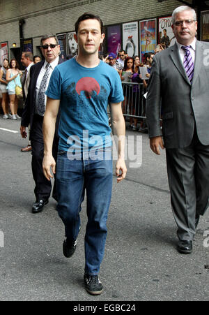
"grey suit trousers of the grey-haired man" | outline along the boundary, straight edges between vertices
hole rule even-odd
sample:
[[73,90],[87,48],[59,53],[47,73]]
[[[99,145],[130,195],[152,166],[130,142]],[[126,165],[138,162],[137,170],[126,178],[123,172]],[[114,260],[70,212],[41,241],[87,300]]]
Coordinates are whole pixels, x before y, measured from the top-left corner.
[[195,218],[208,208],[209,145],[202,145],[194,131],[189,147],[166,149],[171,206],[179,240],[193,240]]

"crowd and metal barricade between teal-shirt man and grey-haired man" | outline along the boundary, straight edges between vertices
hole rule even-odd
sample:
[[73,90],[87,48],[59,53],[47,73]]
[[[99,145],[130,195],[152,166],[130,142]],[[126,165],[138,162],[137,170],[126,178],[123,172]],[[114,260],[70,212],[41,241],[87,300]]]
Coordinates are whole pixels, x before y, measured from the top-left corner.
[[[125,120],[129,121],[129,128],[133,131],[148,133],[146,126],[146,89],[153,57],[157,52],[164,50],[162,45],[157,45],[155,52],[146,52],[144,59],[140,61],[139,56],[129,57],[125,50],[120,50],[118,54],[110,52],[100,55],[100,59],[118,71],[123,84],[124,101],[122,110]],[[142,74],[141,68],[146,68]],[[141,84],[141,87],[139,86]],[[139,124],[139,127],[138,127]]]

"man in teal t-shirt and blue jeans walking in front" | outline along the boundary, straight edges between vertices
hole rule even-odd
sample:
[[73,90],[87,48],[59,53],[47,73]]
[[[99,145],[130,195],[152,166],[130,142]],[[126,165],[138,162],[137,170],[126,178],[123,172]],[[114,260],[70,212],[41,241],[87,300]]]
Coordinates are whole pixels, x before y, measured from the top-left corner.
[[43,170],[48,180],[55,173],[52,156],[56,115],[61,107],[56,180],[59,216],[65,225],[63,254],[70,257],[77,246],[79,212],[87,196],[84,284],[93,295],[102,293],[98,279],[107,237],[107,214],[111,200],[111,129],[107,105],[111,106],[113,133],[118,138],[116,177],[126,175],[124,161],[125,122],[121,110],[123,90],[118,73],[98,58],[104,39],[100,17],[84,13],[75,23],[79,52],[76,59],[57,66],[47,89],[43,123],[45,156]]

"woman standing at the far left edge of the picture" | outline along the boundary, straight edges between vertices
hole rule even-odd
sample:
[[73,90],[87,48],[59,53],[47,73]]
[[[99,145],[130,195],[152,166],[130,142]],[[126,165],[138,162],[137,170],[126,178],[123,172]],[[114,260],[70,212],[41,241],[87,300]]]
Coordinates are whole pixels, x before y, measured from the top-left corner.
[[3,59],[3,66],[0,69],[0,88],[1,88],[1,94],[2,94],[2,101],[1,106],[3,110],[3,119],[8,119],[11,117],[9,113],[9,103],[8,103],[8,91],[6,89],[7,87],[7,81],[6,81],[6,71],[8,71],[9,68],[9,61],[8,59]]

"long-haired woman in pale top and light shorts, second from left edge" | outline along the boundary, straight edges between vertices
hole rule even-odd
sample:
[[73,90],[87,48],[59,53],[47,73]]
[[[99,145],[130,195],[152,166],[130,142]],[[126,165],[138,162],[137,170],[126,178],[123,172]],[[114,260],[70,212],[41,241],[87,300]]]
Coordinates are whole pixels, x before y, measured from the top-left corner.
[[22,87],[20,81],[21,76],[22,72],[19,70],[19,64],[17,63],[17,60],[11,59],[9,69],[6,71],[6,82],[8,83],[6,89],[10,98],[10,112],[12,114],[11,119],[13,120],[21,119],[21,117],[17,115],[18,99],[15,94],[16,85]]

